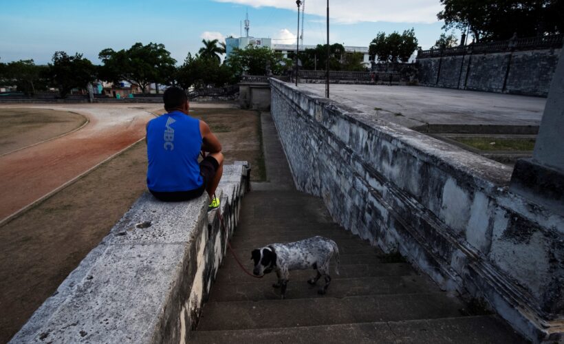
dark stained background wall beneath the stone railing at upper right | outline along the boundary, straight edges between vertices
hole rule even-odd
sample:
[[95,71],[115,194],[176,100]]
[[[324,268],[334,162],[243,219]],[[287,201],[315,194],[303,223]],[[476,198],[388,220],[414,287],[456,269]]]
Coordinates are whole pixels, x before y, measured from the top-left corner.
[[420,85],[547,96],[560,49],[417,59]]

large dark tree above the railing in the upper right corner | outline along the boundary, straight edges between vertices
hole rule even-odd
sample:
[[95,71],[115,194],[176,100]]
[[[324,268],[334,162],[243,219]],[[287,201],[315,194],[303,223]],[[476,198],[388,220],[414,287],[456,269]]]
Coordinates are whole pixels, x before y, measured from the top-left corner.
[[564,28],[561,0],[441,0],[443,28],[468,28],[477,42],[559,34]]

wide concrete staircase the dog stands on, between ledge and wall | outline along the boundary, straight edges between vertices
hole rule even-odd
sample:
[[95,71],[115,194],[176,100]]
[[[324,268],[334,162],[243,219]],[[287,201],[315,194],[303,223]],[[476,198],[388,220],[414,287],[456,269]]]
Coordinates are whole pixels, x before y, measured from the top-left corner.
[[272,288],[274,273],[248,277],[228,252],[191,342],[524,342],[497,316],[473,314],[401,257],[384,255],[334,224],[321,200],[293,188],[285,161],[269,162],[269,156],[279,158],[282,152],[273,128],[270,116],[263,114],[271,183],[254,184],[243,200],[232,247],[251,269],[253,248],[323,235],[339,246],[340,275],[331,269],[332,284],[321,296],[318,287],[306,283],[314,270],[292,271],[287,299],[281,300]]

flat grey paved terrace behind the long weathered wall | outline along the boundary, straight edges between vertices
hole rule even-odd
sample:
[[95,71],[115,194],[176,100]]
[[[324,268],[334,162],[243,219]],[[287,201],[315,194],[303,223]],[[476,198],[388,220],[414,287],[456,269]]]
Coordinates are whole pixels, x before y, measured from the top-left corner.
[[[324,96],[325,85],[300,89]],[[406,127],[539,125],[546,99],[417,86],[331,85],[331,98]],[[378,109],[375,109],[378,108]]]

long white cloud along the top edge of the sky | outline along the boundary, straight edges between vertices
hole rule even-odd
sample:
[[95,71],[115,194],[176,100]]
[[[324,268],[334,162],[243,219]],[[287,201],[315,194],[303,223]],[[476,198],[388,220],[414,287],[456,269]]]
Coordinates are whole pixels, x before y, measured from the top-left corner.
[[[274,7],[297,10],[294,1],[289,0],[214,0],[223,3],[237,3],[252,7]],[[327,1],[307,0],[305,14],[325,17]],[[359,23],[387,21],[391,23],[436,23],[437,13],[442,10],[438,0],[349,0],[330,1],[329,16],[337,23]]]

